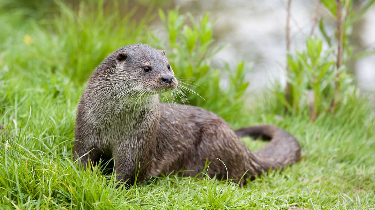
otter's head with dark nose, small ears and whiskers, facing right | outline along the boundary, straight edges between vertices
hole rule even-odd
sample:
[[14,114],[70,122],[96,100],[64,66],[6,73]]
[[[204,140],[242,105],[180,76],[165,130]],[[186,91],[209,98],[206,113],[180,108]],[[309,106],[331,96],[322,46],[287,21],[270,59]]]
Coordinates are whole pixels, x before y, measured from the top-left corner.
[[164,50],[157,50],[147,44],[132,44],[121,47],[113,53],[117,85],[129,93],[157,93],[174,90],[177,79]]

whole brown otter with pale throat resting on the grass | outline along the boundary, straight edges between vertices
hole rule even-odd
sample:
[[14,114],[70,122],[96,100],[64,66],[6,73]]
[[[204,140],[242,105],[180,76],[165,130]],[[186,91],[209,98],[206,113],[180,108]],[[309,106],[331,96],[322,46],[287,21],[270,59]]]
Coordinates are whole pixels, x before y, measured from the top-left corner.
[[[117,180],[132,185],[180,170],[196,176],[207,163],[208,176],[245,184],[300,159],[299,143],[283,129],[259,125],[234,131],[211,111],[160,103],[158,94],[177,85],[164,50],[132,44],[108,55],[78,104],[74,160],[84,167],[114,159]],[[243,136],[270,142],[251,152]]]

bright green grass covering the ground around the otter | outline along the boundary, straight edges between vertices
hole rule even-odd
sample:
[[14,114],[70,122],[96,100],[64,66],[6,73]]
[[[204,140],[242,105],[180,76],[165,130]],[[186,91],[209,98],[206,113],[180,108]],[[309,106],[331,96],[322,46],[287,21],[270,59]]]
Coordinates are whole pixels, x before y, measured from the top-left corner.
[[[312,123],[307,114],[282,114],[273,96],[251,104],[241,96],[231,106],[225,94],[227,101],[214,98],[218,90],[201,90],[207,102],[193,104],[233,127],[275,124],[302,145],[299,163],[243,188],[171,174],[124,190],[96,168],[78,170],[72,162],[75,107],[90,73],[120,46],[160,43],[147,30],[148,19],[108,18],[100,10],[90,16],[64,4],[57,11],[45,19],[26,9],[0,10],[0,124],[6,126],[0,133],[0,209],[375,208],[374,119],[368,102],[353,95]],[[251,149],[265,144],[243,140]]]

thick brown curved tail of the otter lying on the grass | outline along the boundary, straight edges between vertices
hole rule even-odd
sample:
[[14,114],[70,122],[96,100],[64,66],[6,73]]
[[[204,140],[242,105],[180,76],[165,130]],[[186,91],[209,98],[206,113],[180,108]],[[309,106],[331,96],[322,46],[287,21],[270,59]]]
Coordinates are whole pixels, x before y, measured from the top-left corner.
[[[250,136],[254,139],[270,140],[264,147],[254,152],[261,171],[284,169],[300,160],[301,147],[287,131],[271,125],[250,126],[235,131],[238,137]],[[261,172],[260,172],[261,173]]]

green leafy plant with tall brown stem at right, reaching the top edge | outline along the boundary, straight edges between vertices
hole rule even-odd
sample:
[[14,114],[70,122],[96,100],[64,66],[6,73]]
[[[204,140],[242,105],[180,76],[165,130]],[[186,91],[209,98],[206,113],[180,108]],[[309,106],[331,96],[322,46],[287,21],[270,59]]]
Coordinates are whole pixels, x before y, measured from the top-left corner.
[[353,56],[349,36],[354,22],[358,21],[374,2],[375,0],[367,1],[358,12],[354,10],[353,1],[350,0],[321,1],[330,16],[335,18],[335,35],[328,35],[324,21],[320,19],[319,30],[323,40],[316,36],[308,37],[305,50],[287,55],[290,93],[285,98],[284,91],[276,90],[275,95],[289,112],[300,114],[309,110],[310,118],[314,121],[322,112],[334,111],[349,90],[354,90],[351,94],[356,95],[347,63],[352,58],[366,56],[372,52]]

